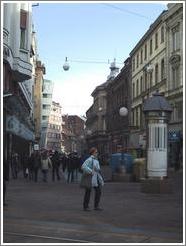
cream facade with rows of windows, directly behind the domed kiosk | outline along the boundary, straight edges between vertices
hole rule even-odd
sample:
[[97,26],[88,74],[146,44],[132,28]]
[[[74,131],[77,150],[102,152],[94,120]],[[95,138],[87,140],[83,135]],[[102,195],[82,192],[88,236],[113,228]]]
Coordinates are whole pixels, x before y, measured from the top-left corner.
[[166,91],[167,56],[166,26],[163,11],[149,30],[131,51],[132,103],[131,103],[131,146],[146,148],[145,119],[142,105],[146,98],[158,90]]

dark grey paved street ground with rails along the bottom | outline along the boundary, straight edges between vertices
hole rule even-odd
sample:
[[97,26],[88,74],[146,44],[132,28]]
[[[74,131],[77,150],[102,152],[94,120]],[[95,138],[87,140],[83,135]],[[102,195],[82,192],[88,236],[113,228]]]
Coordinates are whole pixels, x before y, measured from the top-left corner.
[[[107,170],[106,170],[107,169]],[[106,176],[110,175],[105,167]],[[79,177],[79,175],[78,175]],[[182,172],[171,194],[146,194],[140,183],[106,182],[103,211],[82,210],[78,180],[10,180],[3,213],[4,243],[181,243]],[[109,177],[107,177],[109,180]],[[93,194],[91,204],[93,206]]]

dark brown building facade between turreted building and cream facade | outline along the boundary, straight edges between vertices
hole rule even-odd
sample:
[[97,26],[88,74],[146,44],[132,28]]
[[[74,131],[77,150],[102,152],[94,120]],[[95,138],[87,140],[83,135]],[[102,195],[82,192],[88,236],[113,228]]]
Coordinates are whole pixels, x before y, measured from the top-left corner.
[[[120,73],[107,85],[107,136],[109,153],[126,152],[130,147],[131,114],[131,62],[127,58]],[[120,108],[128,110],[126,116],[119,114]]]

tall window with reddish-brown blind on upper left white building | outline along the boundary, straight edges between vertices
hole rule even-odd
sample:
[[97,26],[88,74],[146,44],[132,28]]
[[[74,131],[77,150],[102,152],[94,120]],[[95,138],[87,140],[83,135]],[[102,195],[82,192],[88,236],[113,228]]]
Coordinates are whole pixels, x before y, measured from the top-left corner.
[[20,12],[20,48],[26,49],[26,28],[27,28],[27,12],[21,9]]

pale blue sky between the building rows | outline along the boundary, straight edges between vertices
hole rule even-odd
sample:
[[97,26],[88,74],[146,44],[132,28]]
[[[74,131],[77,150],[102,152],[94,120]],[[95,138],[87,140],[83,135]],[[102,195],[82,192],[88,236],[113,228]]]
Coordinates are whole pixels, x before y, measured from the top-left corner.
[[[85,116],[110,62],[121,69],[167,2],[45,2],[32,8],[39,59],[62,113]],[[65,57],[70,69],[63,70]]]

